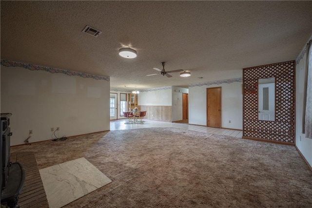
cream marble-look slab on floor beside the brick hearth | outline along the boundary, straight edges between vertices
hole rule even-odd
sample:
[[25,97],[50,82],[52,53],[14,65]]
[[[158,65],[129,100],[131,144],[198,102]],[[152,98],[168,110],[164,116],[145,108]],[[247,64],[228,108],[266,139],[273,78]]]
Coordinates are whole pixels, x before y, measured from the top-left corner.
[[112,182],[83,157],[39,172],[50,208],[61,208]]

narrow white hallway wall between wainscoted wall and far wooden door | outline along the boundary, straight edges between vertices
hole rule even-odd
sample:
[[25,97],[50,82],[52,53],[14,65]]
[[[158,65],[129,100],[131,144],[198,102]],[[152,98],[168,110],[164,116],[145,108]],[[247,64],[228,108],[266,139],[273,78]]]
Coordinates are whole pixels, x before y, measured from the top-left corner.
[[172,121],[183,119],[182,93],[189,93],[189,89],[181,87],[172,87]]

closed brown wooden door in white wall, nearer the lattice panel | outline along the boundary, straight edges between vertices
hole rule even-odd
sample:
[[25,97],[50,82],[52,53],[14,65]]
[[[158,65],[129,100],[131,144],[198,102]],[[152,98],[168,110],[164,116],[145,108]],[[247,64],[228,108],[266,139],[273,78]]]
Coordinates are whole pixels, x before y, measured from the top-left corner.
[[207,88],[207,126],[221,128],[221,87]]

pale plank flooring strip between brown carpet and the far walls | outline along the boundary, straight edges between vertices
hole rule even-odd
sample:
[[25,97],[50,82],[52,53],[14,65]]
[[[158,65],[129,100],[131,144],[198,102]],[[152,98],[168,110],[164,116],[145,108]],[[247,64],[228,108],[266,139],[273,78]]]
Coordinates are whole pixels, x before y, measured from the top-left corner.
[[125,124],[126,122],[128,122],[128,119],[120,119],[117,121],[115,120],[114,122],[110,122],[110,130],[115,131],[115,130],[141,129],[141,128],[177,128],[196,132],[215,133],[218,135],[227,135],[238,138],[241,138],[243,135],[243,132],[240,130],[219,129],[206,126],[197,126],[184,123],[171,123],[164,121],[153,121],[147,119],[143,119],[143,121],[145,121],[143,124],[140,123]]

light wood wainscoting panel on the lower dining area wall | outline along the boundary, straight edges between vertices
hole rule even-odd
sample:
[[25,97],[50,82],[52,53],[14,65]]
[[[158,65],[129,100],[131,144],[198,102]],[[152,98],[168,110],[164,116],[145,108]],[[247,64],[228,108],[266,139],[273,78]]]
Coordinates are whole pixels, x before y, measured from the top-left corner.
[[172,122],[172,107],[171,106],[138,106],[140,111],[146,111],[146,119],[155,121]]

